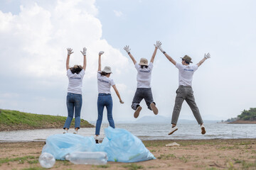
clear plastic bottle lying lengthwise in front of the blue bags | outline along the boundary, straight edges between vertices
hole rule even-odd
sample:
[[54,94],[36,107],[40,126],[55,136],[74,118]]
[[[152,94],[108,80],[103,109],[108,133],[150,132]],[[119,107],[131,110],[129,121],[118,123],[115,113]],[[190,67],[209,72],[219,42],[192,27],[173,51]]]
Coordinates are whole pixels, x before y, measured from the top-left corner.
[[106,152],[73,152],[67,154],[65,159],[73,164],[107,164]]

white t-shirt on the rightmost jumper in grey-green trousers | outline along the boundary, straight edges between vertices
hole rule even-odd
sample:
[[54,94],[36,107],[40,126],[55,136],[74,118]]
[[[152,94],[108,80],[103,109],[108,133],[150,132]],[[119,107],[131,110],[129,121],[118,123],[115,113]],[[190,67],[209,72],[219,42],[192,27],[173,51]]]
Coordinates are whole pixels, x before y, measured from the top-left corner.
[[178,85],[192,86],[193,73],[198,69],[198,65],[183,65],[176,62],[178,68]]

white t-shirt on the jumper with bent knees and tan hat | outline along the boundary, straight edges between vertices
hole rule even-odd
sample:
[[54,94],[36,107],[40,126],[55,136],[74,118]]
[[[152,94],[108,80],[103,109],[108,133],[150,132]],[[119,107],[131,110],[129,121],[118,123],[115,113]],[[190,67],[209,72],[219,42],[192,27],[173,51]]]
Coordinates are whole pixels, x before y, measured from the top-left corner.
[[138,63],[135,63],[135,68],[138,71],[137,88],[151,88],[150,81],[151,81],[151,71],[153,69],[153,63],[150,62],[149,66],[147,68],[143,67],[143,69]]

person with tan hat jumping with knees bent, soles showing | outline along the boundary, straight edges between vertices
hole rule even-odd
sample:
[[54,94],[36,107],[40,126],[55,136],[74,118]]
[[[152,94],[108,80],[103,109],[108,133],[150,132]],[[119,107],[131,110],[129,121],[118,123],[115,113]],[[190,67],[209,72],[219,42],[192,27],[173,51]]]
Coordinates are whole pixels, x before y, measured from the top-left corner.
[[134,94],[134,98],[132,100],[132,109],[134,109],[134,118],[139,117],[139,112],[142,111],[142,106],[139,106],[139,103],[144,100],[146,101],[146,106],[148,106],[149,110],[153,111],[155,115],[158,114],[158,109],[156,108],[156,103],[154,102],[152,91],[151,91],[151,72],[153,69],[153,62],[156,56],[157,47],[155,45],[155,50],[151,57],[150,63],[148,64],[148,60],[145,58],[141,58],[139,64],[132,56],[129,46],[125,46],[124,50],[128,53],[129,57],[131,57],[132,62],[134,62],[135,68],[137,69],[137,90]]

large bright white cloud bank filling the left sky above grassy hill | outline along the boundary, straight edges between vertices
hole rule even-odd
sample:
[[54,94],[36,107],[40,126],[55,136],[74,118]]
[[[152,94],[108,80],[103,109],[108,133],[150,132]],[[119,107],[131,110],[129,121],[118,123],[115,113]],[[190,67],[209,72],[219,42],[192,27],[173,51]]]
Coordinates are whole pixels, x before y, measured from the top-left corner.
[[[97,86],[100,50],[105,51],[102,65],[110,65],[117,76],[120,69],[125,72],[127,57],[102,39],[94,0],[52,4],[26,1],[17,15],[0,11],[0,108],[14,108],[8,100],[16,103],[16,110],[65,115],[67,47],[74,51],[70,66],[82,64],[80,50],[87,47],[85,87]],[[97,96],[97,89],[92,95]]]

